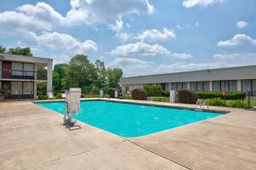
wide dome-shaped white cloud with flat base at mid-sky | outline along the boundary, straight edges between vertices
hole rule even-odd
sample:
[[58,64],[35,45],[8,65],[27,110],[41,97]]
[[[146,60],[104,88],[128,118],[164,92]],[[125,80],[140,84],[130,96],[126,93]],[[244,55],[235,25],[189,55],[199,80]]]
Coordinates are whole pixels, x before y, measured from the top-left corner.
[[120,45],[108,54],[131,57],[168,55],[171,54],[171,52],[159,44],[150,45],[144,42],[136,42]]

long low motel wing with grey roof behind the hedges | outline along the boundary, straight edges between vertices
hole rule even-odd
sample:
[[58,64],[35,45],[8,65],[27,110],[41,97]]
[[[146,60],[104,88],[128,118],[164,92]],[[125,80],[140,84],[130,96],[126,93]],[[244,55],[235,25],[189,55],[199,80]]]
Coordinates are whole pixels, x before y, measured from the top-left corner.
[[144,84],[161,84],[165,90],[256,92],[256,65],[184,71],[158,75],[122,77],[122,91],[127,93]]

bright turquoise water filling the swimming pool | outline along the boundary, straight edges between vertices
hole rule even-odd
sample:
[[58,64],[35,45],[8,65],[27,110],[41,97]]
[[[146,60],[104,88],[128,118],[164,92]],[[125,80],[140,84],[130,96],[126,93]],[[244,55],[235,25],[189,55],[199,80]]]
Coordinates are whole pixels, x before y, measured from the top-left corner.
[[[64,102],[36,103],[52,111],[64,113]],[[138,137],[180,127],[221,114],[208,111],[132,105],[108,101],[82,101],[79,115],[74,118],[123,137]]]

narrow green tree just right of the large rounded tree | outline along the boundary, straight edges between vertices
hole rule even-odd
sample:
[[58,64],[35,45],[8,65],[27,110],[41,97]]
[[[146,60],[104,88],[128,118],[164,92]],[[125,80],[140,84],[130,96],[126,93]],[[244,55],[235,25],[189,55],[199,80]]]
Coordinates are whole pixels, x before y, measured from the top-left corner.
[[95,86],[98,89],[106,88],[107,87],[107,69],[105,67],[105,64],[103,61],[97,59],[95,62],[95,68],[96,68],[96,80],[95,80]]

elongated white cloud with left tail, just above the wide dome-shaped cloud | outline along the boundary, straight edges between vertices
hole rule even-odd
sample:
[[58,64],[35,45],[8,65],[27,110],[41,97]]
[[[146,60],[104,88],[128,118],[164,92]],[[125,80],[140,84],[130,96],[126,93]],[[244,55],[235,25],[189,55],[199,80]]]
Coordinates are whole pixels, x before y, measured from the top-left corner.
[[131,41],[131,40],[139,40],[142,42],[163,42],[169,39],[176,38],[176,34],[172,30],[168,30],[167,28],[163,28],[162,31],[152,29],[143,31],[141,34],[131,34],[131,33],[117,33],[116,37],[121,39],[122,41]]

